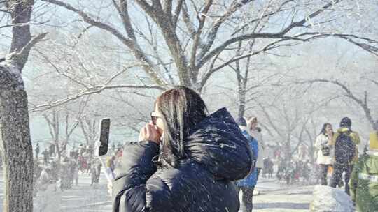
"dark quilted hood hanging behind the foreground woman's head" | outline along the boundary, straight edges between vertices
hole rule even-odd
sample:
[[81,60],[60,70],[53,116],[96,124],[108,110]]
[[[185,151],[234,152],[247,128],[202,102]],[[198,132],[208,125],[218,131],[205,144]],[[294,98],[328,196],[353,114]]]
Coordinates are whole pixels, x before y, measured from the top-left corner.
[[190,131],[185,151],[216,178],[243,179],[252,168],[248,139],[225,108],[207,116]]

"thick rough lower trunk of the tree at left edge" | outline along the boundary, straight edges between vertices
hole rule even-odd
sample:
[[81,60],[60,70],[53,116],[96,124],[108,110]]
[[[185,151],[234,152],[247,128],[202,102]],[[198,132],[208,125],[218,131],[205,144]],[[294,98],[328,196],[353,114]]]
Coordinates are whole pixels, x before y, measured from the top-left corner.
[[33,149],[27,93],[18,68],[0,64],[0,143],[3,149],[4,212],[33,211]]

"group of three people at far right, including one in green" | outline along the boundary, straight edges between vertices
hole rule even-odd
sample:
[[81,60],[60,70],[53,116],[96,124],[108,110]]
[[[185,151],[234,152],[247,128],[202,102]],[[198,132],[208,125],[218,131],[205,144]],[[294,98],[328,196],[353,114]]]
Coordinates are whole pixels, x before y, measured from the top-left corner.
[[[344,117],[334,132],[324,123],[316,138],[316,162],[320,169],[321,185],[343,187],[351,195],[357,211],[378,210],[378,121],[370,133],[369,148],[358,152],[360,136],[352,130],[352,121]],[[328,174],[331,173],[330,180]],[[343,181],[344,178],[344,181]]]

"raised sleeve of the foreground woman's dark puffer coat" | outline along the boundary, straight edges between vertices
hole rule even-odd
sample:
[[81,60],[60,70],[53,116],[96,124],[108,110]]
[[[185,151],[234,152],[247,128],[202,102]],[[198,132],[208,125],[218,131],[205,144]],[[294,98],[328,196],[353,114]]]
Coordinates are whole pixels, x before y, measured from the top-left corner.
[[159,154],[154,142],[132,142],[125,146],[113,181],[113,212],[144,212],[146,181],[156,172],[153,159]]

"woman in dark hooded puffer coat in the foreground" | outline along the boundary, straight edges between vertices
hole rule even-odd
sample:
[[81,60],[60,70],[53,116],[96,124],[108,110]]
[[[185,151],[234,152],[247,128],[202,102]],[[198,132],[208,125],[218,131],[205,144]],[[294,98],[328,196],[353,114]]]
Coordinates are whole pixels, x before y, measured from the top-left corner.
[[113,211],[237,212],[233,181],[248,176],[253,155],[227,109],[207,116],[202,98],[178,86],[158,97],[151,119],[141,142],[124,147]]

